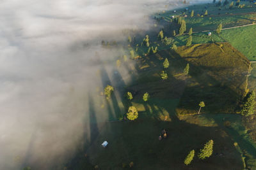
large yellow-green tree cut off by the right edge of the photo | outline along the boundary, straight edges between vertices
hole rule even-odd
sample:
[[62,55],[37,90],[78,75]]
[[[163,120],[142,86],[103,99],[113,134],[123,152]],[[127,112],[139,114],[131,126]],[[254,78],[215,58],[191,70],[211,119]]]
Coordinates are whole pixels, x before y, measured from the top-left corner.
[[255,92],[252,91],[246,96],[246,101],[243,104],[241,115],[243,115],[244,117],[248,117],[249,115],[254,114],[255,104]]

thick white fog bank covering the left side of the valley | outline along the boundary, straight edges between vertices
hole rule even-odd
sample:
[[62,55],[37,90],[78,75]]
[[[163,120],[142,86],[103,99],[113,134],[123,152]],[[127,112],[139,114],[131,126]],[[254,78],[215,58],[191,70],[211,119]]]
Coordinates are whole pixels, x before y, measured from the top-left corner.
[[108,120],[100,92],[104,81],[115,81],[116,57],[124,55],[100,41],[126,41],[123,29],[147,30],[148,15],[179,3],[0,1],[0,169],[48,169],[90,141],[88,111],[95,110],[99,129]]

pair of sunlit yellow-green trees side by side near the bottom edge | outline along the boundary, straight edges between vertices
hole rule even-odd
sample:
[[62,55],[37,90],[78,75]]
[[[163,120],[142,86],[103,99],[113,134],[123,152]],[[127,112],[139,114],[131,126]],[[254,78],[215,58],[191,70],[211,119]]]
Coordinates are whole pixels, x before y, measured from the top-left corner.
[[[208,157],[211,157],[212,155],[212,147],[213,147],[213,140],[209,140],[205,145],[204,148],[200,150],[198,153],[198,158],[199,159],[206,159]],[[191,164],[192,160],[194,159],[195,156],[195,150],[191,150],[191,152],[188,153],[187,157],[184,160],[184,164],[188,166]]]

